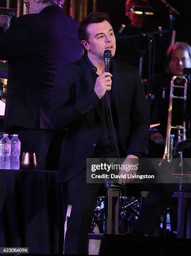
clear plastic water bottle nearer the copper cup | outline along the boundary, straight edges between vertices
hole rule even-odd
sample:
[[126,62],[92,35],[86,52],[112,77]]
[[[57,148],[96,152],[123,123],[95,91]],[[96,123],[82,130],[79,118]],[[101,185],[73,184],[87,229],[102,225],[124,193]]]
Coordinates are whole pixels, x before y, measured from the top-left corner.
[[13,134],[10,153],[10,169],[19,170],[20,167],[20,140],[18,134]]

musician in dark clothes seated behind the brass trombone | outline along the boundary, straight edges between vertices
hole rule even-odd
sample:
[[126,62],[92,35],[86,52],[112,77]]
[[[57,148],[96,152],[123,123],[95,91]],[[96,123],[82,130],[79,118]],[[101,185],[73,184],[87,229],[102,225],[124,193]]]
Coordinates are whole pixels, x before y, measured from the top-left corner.
[[[170,84],[173,75],[183,75],[184,68],[191,68],[191,47],[185,42],[176,42],[167,50],[167,58],[169,63],[169,73],[164,73],[155,77],[153,81],[154,100],[151,105],[151,121],[152,123],[161,123],[159,131],[151,135],[151,143],[149,146],[150,157],[161,158],[164,153],[164,143],[166,138],[166,128],[168,120],[168,105],[170,96]],[[188,89],[186,100],[186,136],[190,138],[190,121],[191,121],[191,81],[190,75],[187,76]],[[173,104],[174,113],[180,113],[180,105]],[[176,110],[175,110],[176,109]],[[181,113],[180,113],[181,115]],[[179,115],[179,117],[180,117]],[[180,117],[181,118],[181,117]]]

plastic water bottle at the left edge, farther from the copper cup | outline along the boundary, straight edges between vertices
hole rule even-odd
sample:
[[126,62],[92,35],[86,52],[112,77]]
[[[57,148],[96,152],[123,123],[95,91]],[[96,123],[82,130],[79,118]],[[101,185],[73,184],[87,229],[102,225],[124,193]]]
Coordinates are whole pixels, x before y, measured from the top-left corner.
[[0,140],[0,169],[10,169],[11,143],[8,134],[4,133]]

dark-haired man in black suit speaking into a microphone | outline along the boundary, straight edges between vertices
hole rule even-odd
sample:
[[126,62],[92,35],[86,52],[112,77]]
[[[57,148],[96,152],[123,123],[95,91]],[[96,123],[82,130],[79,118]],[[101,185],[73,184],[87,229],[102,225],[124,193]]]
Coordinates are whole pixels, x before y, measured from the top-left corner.
[[[110,72],[103,72],[103,52],[109,49],[114,56],[116,50],[108,15],[88,15],[78,27],[78,36],[85,54],[58,70],[53,97],[52,123],[58,129],[68,128],[60,159],[60,182],[65,184],[65,198],[70,197],[72,204],[65,254],[86,254],[88,249],[88,231],[100,184],[86,183],[86,158],[118,157],[116,141],[120,156],[126,158],[124,164],[132,158],[138,161],[147,151],[150,124],[137,69],[112,58]],[[173,189],[166,184],[128,185],[130,190],[133,186],[150,191],[133,236],[153,235]]]

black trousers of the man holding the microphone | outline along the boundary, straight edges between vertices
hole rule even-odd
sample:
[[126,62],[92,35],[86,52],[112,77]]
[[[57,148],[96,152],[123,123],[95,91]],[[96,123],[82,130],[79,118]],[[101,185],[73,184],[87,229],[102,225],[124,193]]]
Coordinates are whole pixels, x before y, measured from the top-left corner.
[[[97,158],[98,156],[95,156]],[[101,156],[102,157],[102,156]],[[116,152],[104,156],[116,157]],[[88,232],[93,218],[95,200],[100,184],[87,184],[85,169],[64,183],[65,198],[70,198],[72,210],[65,235],[65,254],[88,254]],[[127,195],[132,191],[148,191],[133,233],[152,236],[168,200],[174,192],[174,184],[127,184]],[[66,207],[67,209],[67,207]]]

